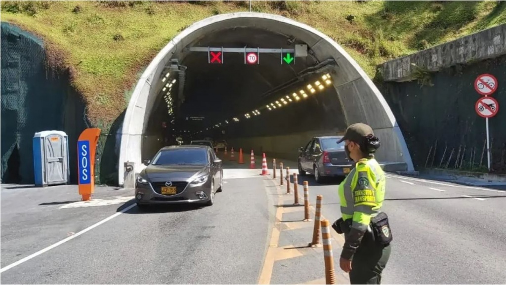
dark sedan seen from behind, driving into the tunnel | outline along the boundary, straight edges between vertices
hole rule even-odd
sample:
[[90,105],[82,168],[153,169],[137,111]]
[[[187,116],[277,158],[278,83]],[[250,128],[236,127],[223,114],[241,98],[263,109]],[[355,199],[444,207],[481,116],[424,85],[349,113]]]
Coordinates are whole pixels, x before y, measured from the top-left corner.
[[355,163],[345,153],[345,142],[337,141],[343,136],[317,136],[299,149],[299,174],[313,173],[317,183],[325,176],[346,176]]

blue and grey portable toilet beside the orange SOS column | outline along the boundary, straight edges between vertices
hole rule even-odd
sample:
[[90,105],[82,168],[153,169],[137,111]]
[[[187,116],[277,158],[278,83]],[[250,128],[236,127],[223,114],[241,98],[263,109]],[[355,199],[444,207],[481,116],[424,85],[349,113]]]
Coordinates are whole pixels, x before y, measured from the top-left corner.
[[68,136],[48,130],[33,135],[35,186],[67,184],[69,181]]

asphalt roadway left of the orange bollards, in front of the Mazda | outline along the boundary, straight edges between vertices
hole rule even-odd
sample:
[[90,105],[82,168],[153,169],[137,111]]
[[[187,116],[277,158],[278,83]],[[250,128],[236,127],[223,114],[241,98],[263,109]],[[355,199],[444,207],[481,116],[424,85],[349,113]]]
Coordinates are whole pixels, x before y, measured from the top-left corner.
[[[160,206],[141,212],[133,206],[75,239],[2,272],[2,283],[257,283],[273,207],[268,206],[262,176],[240,178],[244,175],[238,170],[230,177],[236,178],[225,179],[223,192],[216,195],[211,207]],[[24,231],[29,239],[17,240],[16,227],[24,230],[27,222],[16,225],[4,220],[4,211],[15,216],[8,213],[14,211],[13,207],[4,208],[8,202],[6,199],[4,203],[3,191],[2,268],[66,237],[68,225],[63,223],[61,229],[60,220],[56,220],[43,225],[44,235],[38,235],[37,228],[33,228]],[[108,215],[128,208],[132,202],[115,205],[117,209]],[[104,218],[93,214],[104,211],[101,207],[87,208],[90,222],[73,230],[82,230]],[[76,220],[76,211],[84,210],[52,209],[53,218],[58,216],[62,221],[67,215],[71,215],[68,220]],[[31,224],[36,223],[34,219],[32,216]],[[24,249],[25,245],[30,247]],[[4,252],[9,253],[5,262]]]

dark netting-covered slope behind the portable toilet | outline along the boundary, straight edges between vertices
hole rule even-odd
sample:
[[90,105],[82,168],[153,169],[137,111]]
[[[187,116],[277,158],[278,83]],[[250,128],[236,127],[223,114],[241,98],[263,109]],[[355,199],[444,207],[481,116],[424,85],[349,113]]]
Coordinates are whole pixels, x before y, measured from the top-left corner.
[[[0,148],[4,183],[33,183],[35,132],[63,130],[75,136],[76,128],[82,130],[79,124],[69,122],[75,120],[72,118],[75,114],[71,113],[79,109],[79,104],[73,104],[77,107],[70,113],[65,112],[65,106],[72,100],[68,78],[46,69],[44,60],[44,45],[39,38],[2,22]],[[67,130],[66,120],[66,125],[71,127]],[[71,178],[74,179],[75,156],[75,150],[71,151]]]

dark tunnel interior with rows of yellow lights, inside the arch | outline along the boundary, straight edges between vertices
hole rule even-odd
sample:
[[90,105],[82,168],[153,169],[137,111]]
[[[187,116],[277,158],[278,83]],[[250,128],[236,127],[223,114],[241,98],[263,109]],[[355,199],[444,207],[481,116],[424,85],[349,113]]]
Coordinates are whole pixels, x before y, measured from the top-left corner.
[[171,63],[179,68],[167,67],[158,79],[161,84],[144,133],[142,159],[150,159],[163,146],[177,145],[177,137],[183,144],[204,137],[225,139],[229,147],[249,150],[262,146],[234,144],[240,144],[239,138],[344,130],[342,105],[331,88],[332,60],[320,61],[309,53],[287,64],[282,59],[285,54],[257,53],[258,64],[248,64],[247,53],[224,52],[220,64],[209,63],[207,51],[188,50],[294,49],[296,44],[307,43],[289,34],[234,27],[204,34],[175,53]]

